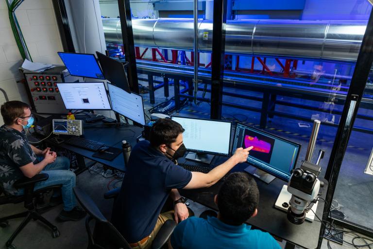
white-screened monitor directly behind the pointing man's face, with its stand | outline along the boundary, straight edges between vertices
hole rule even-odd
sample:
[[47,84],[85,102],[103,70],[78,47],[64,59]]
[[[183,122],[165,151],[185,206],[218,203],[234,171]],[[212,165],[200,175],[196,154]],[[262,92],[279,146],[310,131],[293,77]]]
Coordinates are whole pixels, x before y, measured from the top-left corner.
[[185,129],[183,140],[189,153],[186,158],[210,163],[212,155],[229,155],[232,123],[172,116]]

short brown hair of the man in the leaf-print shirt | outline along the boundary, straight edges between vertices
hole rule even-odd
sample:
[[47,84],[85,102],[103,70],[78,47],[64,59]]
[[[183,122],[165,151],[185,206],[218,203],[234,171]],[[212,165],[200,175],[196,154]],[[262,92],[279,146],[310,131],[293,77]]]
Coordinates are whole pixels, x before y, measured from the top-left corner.
[[15,119],[23,116],[25,109],[31,109],[31,107],[28,104],[17,100],[8,101],[2,104],[1,116],[4,124],[12,125]]

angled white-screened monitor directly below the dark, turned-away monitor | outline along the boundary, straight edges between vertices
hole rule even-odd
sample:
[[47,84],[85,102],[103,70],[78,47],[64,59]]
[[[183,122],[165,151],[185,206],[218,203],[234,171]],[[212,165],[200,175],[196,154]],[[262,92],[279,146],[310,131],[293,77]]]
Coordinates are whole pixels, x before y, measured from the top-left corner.
[[118,112],[132,121],[145,125],[144,105],[141,95],[128,93],[127,91],[107,83],[110,102],[113,111]]

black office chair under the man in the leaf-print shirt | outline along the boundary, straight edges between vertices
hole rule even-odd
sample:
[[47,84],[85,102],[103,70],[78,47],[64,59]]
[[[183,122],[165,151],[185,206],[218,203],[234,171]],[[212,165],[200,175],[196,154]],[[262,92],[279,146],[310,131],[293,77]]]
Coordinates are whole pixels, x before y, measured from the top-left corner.
[[17,180],[14,183],[14,187],[17,189],[24,188],[24,195],[22,196],[1,196],[2,190],[0,189],[0,205],[3,204],[17,204],[20,202],[24,202],[24,207],[27,209],[26,212],[17,213],[13,215],[9,215],[7,217],[0,218],[0,227],[5,228],[9,225],[8,220],[25,217],[21,224],[17,227],[16,231],[13,232],[12,236],[6,242],[7,249],[15,249],[16,247],[12,245],[13,240],[16,238],[17,234],[22,231],[22,229],[30,222],[31,219],[33,220],[40,220],[45,225],[47,225],[52,230],[52,237],[57,238],[60,236],[60,231],[58,231],[57,227],[51,224],[46,218],[40,215],[36,209],[36,205],[34,203],[34,198],[39,197],[40,194],[43,194],[47,191],[50,191],[55,188],[60,188],[62,185],[53,185],[46,188],[42,188],[39,190],[34,191],[35,183],[45,181],[48,179],[48,174],[38,174],[33,178],[22,178]]

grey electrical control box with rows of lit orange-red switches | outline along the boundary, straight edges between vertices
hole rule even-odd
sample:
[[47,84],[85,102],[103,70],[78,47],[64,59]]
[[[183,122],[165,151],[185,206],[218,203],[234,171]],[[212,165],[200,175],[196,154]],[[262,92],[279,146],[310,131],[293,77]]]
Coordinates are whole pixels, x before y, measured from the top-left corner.
[[65,66],[44,72],[23,71],[26,91],[36,113],[65,114],[68,111],[58,90],[59,82],[77,82],[79,77],[69,75]]

